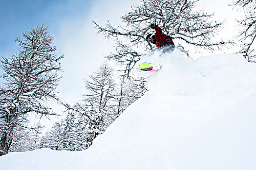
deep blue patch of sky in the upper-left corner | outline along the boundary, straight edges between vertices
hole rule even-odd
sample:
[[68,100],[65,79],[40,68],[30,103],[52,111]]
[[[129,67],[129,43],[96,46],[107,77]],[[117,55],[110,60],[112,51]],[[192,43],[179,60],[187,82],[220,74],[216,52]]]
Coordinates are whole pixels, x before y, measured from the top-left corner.
[[60,23],[85,16],[91,0],[0,0],[0,54],[9,55],[16,47],[12,38],[39,24],[57,34]]

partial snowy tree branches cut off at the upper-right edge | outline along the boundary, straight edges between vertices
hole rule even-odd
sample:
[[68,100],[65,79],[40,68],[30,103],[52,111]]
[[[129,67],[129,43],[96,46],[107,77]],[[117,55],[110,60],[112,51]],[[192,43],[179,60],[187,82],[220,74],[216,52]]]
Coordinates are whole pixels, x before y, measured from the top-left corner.
[[245,12],[245,17],[237,21],[241,26],[237,35],[241,41],[239,52],[249,62],[256,62],[256,0],[235,0],[234,5]]

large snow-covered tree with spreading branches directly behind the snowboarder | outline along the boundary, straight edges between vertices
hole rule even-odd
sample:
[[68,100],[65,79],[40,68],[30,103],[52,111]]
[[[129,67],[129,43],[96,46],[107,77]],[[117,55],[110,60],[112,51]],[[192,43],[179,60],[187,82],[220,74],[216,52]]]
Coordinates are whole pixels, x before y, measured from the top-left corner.
[[175,39],[183,40],[198,48],[214,50],[227,44],[224,41],[212,41],[218,28],[223,22],[213,21],[213,14],[196,11],[198,0],[141,0],[141,4],[131,7],[131,12],[122,16],[122,24],[100,26],[94,21],[97,34],[104,34],[106,38],[113,38],[116,42],[116,52],[107,56],[108,59],[120,62],[126,66],[125,76],[129,76],[131,69],[142,55],[137,47],[152,49],[146,41],[146,35],[152,33],[151,23],[158,24],[163,32]]

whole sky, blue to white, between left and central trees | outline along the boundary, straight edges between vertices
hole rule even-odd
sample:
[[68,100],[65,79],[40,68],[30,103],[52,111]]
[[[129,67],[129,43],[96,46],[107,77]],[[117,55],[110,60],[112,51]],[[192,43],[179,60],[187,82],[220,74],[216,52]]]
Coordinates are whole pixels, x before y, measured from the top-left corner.
[[[120,22],[134,1],[138,0],[0,0],[0,55],[16,53],[15,36],[47,25],[57,55],[64,54],[59,97],[70,104],[77,102],[85,93],[84,79],[113,49],[102,35],[95,35],[92,20]],[[62,110],[58,105],[53,107],[57,112]]]

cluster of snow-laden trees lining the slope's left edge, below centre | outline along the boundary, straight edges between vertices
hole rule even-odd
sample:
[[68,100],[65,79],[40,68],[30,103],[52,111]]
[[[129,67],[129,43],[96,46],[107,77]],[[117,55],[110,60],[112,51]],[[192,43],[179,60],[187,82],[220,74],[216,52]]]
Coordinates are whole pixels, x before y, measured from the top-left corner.
[[74,106],[63,103],[67,109],[65,119],[56,122],[43,136],[40,147],[67,151],[87,149],[128,105],[146,93],[145,78],[117,81],[113,73],[113,69],[103,63],[85,80],[87,91],[83,100]]

